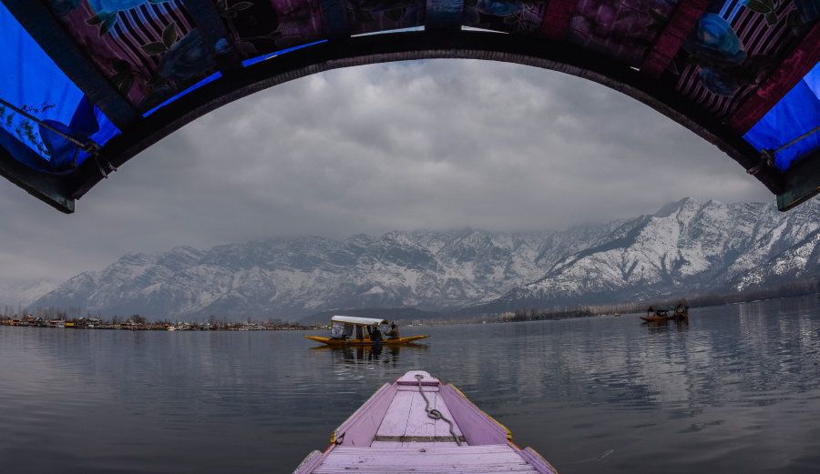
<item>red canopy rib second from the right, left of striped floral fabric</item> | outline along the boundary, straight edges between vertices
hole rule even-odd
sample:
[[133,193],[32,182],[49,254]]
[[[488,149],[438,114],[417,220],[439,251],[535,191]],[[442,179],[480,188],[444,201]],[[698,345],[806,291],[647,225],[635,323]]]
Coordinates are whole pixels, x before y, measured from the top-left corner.
[[678,5],[663,33],[655,42],[649,55],[643,60],[641,73],[660,77],[678,51],[681,50],[686,37],[698,25],[698,20],[706,13],[710,0],[683,1]]

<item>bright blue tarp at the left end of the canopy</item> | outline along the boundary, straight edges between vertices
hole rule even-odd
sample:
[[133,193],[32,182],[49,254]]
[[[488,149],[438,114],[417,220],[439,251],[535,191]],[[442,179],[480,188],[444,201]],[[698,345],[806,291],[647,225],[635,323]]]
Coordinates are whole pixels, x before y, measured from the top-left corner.
[[[100,146],[118,135],[117,127],[85,99],[2,3],[0,71],[0,97],[48,125]],[[66,170],[87,158],[62,136],[8,107],[0,108],[0,116],[0,126],[42,156],[47,170]],[[30,160],[18,159],[31,166]]]

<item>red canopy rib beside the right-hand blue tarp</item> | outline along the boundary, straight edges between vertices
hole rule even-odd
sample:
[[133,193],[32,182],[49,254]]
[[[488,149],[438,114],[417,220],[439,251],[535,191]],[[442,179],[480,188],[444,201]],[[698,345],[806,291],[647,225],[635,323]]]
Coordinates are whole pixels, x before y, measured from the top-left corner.
[[784,59],[764,85],[738,108],[729,125],[743,135],[792,90],[812,67],[820,61],[820,24],[805,35],[800,45]]

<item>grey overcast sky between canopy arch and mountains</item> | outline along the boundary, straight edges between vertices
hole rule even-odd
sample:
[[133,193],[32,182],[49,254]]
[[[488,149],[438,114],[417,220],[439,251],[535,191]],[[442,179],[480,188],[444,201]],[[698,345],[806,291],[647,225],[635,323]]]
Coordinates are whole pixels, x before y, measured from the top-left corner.
[[692,132],[577,77],[466,60],[363,66],[200,118],[74,215],[0,180],[0,277],[282,235],[563,229],[686,196],[773,198]]

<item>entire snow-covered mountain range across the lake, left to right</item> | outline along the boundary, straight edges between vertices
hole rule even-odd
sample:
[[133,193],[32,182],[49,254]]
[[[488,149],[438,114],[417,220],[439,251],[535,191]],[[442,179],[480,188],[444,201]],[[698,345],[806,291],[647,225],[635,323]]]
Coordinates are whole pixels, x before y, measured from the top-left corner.
[[394,231],[128,254],[68,279],[32,308],[298,319],[333,308],[633,301],[818,278],[818,243],[820,198],[789,213],[686,198],[651,216],[560,232]]

